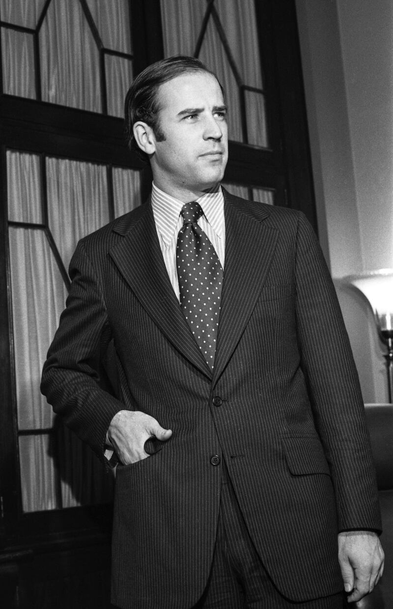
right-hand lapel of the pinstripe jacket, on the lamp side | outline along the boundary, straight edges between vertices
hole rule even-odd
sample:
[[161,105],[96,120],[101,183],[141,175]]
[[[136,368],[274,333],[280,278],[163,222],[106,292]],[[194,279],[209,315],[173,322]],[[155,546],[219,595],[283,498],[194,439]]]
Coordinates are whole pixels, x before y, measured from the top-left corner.
[[224,191],[225,264],[220,323],[214,363],[217,381],[246,328],[265,283],[277,242],[277,231],[263,224],[269,216],[261,206],[257,216],[240,209]]

